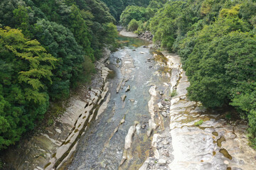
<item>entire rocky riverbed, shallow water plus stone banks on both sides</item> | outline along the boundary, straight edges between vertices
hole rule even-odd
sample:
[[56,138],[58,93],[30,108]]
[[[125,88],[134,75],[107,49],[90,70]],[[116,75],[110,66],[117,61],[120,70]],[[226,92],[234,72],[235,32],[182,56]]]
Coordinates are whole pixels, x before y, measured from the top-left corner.
[[46,132],[6,153],[14,169],[256,169],[247,123],[230,118],[233,108],[189,101],[178,55],[138,38],[119,44],[108,68],[97,64],[102,79],[81,91],[90,99],[71,98]]

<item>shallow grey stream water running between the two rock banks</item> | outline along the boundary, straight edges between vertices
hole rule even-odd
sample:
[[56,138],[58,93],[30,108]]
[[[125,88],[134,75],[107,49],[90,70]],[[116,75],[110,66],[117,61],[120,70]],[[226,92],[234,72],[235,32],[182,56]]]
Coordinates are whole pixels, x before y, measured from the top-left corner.
[[[146,135],[150,119],[149,89],[154,84],[159,87],[159,91],[168,91],[169,86],[162,84],[168,82],[169,78],[154,74],[159,70],[164,72],[164,68],[156,67],[154,51],[144,47],[149,42],[125,37],[120,37],[119,42],[122,47],[110,55],[109,67],[113,72],[109,76],[112,79],[109,79],[108,106],[80,138],[78,152],[68,169],[139,169],[149,156],[151,138]],[[121,89],[117,93],[119,84]],[[130,90],[125,92],[127,86],[130,86]],[[121,96],[124,94],[127,97],[122,101]],[[121,124],[123,118],[125,122]],[[127,161],[120,166],[124,139],[134,124],[138,125],[132,149]]]

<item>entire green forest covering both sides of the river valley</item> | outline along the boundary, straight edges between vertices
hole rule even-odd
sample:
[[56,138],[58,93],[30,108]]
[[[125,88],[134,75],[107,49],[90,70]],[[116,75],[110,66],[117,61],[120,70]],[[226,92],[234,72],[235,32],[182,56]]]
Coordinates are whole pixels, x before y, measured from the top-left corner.
[[90,80],[117,24],[149,30],[160,50],[176,52],[188,97],[235,107],[256,145],[255,0],[2,0],[0,149],[33,130],[49,102]]

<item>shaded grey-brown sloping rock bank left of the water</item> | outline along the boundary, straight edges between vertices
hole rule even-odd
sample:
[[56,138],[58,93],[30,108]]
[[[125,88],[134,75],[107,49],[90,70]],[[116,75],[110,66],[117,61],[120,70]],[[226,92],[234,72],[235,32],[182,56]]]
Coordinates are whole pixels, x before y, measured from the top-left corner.
[[91,84],[81,86],[78,95],[68,99],[67,106],[63,106],[64,113],[53,121],[53,125],[7,150],[3,159],[12,166],[8,166],[8,169],[60,169],[68,163],[80,135],[95,118],[96,108],[100,107],[106,97],[106,79],[110,72],[106,65],[110,50],[105,49],[103,56],[95,64],[97,74]]

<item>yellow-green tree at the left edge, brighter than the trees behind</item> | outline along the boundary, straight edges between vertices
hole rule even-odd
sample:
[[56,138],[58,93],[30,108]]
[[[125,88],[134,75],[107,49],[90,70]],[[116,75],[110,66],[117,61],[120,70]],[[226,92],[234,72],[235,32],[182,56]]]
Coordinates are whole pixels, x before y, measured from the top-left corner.
[[48,108],[57,59],[20,30],[0,28],[0,148],[14,144]]

